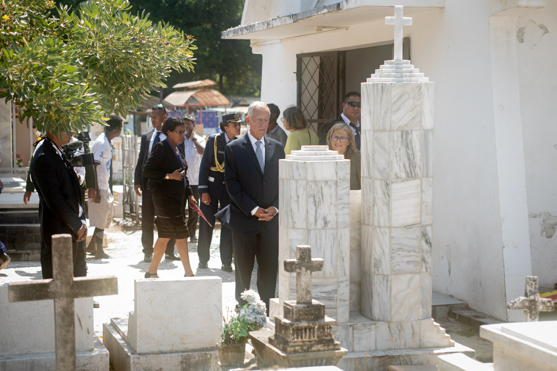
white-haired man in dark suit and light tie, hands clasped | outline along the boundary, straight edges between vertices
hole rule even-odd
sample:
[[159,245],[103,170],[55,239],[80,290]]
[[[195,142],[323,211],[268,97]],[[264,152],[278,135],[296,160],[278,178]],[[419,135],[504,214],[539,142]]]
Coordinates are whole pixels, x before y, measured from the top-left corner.
[[257,258],[257,291],[267,305],[275,297],[278,268],[278,160],[284,149],[265,137],[270,112],[263,102],[248,107],[250,131],[224,147],[224,178],[231,203],[217,219],[232,229],[236,266],[236,300],[250,288],[253,263]]

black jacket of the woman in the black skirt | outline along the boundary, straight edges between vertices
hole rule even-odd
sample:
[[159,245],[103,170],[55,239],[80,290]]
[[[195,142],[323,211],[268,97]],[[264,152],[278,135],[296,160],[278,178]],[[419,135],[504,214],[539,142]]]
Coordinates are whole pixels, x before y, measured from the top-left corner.
[[[164,179],[167,174],[177,169],[185,170],[185,186],[182,180]],[[148,189],[157,189],[172,194],[185,191],[185,195],[190,196],[193,195],[193,192],[189,186],[188,177],[185,176],[187,171],[188,164],[185,164],[185,167],[183,167],[178,157],[176,157],[174,150],[168,144],[168,141],[163,140],[155,144],[151,149],[151,155],[143,168],[143,176],[149,179]]]

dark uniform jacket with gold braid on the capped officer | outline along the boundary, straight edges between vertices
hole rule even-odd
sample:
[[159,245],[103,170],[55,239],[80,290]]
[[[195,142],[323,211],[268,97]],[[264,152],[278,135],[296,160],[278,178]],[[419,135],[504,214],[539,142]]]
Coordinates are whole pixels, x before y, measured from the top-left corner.
[[[207,139],[205,152],[201,158],[201,166],[199,167],[199,193],[208,193],[211,198],[220,198],[226,186],[224,185],[224,172],[211,170],[211,167],[216,166],[214,161],[214,142],[217,141],[217,160],[219,164],[224,161],[224,147],[226,146],[226,133],[211,135]],[[232,140],[235,140],[233,138]],[[213,178],[213,181],[209,180]]]

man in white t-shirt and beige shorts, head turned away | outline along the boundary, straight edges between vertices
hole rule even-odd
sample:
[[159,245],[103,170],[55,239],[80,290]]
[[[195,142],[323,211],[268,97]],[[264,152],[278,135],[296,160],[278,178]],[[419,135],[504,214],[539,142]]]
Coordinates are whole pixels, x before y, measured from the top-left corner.
[[[95,227],[93,238],[87,246],[87,253],[94,253],[95,259],[110,258],[102,250],[102,239],[104,230],[110,226],[114,216],[114,197],[109,188],[110,165],[114,146],[112,140],[120,136],[122,132],[122,119],[116,115],[110,115],[108,126],[104,132],[97,137],[91,153],[95,156],[96,197],[89,205],[89,226]],[[96,246],[95,246],[96,245]]]

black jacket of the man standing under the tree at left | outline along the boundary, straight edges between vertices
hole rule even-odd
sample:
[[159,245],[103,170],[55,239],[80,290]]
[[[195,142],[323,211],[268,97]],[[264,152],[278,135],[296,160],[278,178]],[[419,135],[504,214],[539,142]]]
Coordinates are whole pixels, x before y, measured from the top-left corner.
[[53,234],[69,233],[75,241],[81,220],[85,220],[85,213],[79,216],[82,205],[79,179],[71,165],[65,165],[52,142],[45,141],[33,156],[30,169],[40,199],[41,239],[50,245]]

